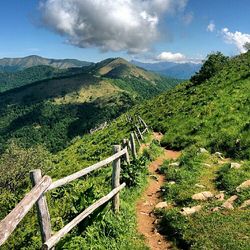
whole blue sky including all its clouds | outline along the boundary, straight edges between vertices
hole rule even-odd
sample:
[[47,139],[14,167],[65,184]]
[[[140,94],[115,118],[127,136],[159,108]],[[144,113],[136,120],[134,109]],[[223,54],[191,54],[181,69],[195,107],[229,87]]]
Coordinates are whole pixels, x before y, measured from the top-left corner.
[[1,1],[0,58],[196,63],[244,53],[249,13],[250,0]]

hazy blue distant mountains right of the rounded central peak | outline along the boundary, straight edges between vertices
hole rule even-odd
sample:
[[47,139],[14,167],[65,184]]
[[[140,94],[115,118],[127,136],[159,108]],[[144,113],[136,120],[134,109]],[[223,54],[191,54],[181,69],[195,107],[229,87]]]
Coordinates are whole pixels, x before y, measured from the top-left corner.
[[178,79],[189,79],[200,70],[202,65],[174,62],[143,63],[134,60],[132,60],[131,63],[146,70],[151,70],[158,74]]

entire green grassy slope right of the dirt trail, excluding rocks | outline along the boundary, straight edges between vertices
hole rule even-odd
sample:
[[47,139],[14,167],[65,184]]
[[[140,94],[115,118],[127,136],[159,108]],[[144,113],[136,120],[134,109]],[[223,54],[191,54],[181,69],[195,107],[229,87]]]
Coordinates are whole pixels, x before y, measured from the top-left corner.
[[[170,205],[157,211],[162,233],[181,249],[248,250],[250,210],[240,206],[250,199],[250,189],[237,192],[236,187],[250,178],[250,52],[231,58],[209,80],[180,84],[133,113],[164,133],[163,146],[183,150],[178,167],[167,161],[162,167],[163,198]],[[210,153],[201,153],[201,147]],[[217,151],[230,158],[211,155]],[[233,169],[231,162],[241,167]],[[222,191],[225,199],[192,199],[203,191]],[[233,195],[234,208],[221,207]],[[197,205],[201,210],[192,216],[181,214]]]

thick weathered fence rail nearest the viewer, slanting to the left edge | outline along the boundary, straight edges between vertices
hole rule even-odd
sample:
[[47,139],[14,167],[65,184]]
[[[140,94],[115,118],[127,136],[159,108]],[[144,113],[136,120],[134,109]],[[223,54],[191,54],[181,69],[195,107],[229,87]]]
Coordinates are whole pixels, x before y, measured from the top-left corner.
[[29,212],[41,195],[51,185],[49,176],[41,181],[18,203],[18,205],[0,222],[0,246],[8,239],[23,217]]

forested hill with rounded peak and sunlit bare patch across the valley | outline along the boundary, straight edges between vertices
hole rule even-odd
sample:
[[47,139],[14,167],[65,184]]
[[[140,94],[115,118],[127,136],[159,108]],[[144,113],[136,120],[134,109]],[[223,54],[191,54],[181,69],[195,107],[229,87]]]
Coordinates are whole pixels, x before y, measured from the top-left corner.
[[180,82],[119,58],[79,70],[82,73],[71,74],[69,70],[66,76],[34,82],[0,95],[1,151],[9,140],[15,140],[24,147],[43,144],[57,152],[75,136],[88,133],[139,101]]

